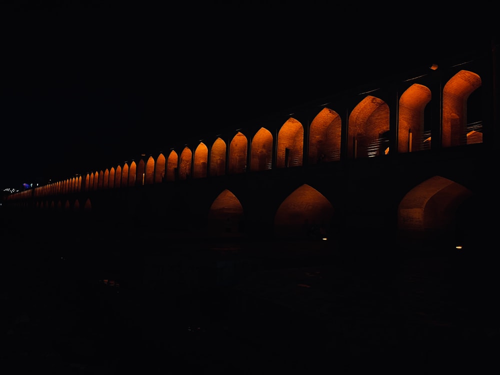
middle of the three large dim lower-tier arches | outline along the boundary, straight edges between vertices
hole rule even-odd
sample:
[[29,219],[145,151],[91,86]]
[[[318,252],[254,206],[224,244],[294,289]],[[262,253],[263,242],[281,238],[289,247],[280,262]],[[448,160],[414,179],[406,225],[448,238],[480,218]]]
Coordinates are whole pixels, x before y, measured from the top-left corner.
[[279,205],[274,235],[281,238],[319,238],[330,230],[333,206],[313,187],[303,184]]

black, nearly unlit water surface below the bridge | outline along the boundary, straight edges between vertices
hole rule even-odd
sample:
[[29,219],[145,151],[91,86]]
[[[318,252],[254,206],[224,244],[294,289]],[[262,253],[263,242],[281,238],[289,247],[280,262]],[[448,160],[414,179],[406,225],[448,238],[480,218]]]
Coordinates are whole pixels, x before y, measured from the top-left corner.
[[3,235],[18,239],[2,244],[9,373],[498,366],[496,263],[481,251]]

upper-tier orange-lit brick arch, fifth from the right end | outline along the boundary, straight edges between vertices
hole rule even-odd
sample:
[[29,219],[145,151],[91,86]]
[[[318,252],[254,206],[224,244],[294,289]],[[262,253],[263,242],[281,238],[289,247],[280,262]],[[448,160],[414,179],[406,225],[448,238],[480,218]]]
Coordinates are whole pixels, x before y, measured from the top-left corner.
[[290,117],[278,132],[276,167],[301,166],[303,159],[304,128],[295,118]]

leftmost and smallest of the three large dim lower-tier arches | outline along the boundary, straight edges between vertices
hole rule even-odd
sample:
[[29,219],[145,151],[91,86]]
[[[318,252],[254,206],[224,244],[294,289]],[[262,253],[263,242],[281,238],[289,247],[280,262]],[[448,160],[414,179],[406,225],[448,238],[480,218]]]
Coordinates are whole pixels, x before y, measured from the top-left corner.
[[213,200],[208,211],[208,233],[216,237],[242,235],[243,220],[241,203],[225,189]]

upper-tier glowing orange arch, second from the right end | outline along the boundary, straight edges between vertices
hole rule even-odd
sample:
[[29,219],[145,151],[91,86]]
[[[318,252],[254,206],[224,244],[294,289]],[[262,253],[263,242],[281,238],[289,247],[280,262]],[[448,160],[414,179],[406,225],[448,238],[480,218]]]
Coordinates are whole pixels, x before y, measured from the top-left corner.
[[431,99],[428,87],[414,83],[399,98],[397,152],[420,151],[424,148],[423,119],[425,106]]

